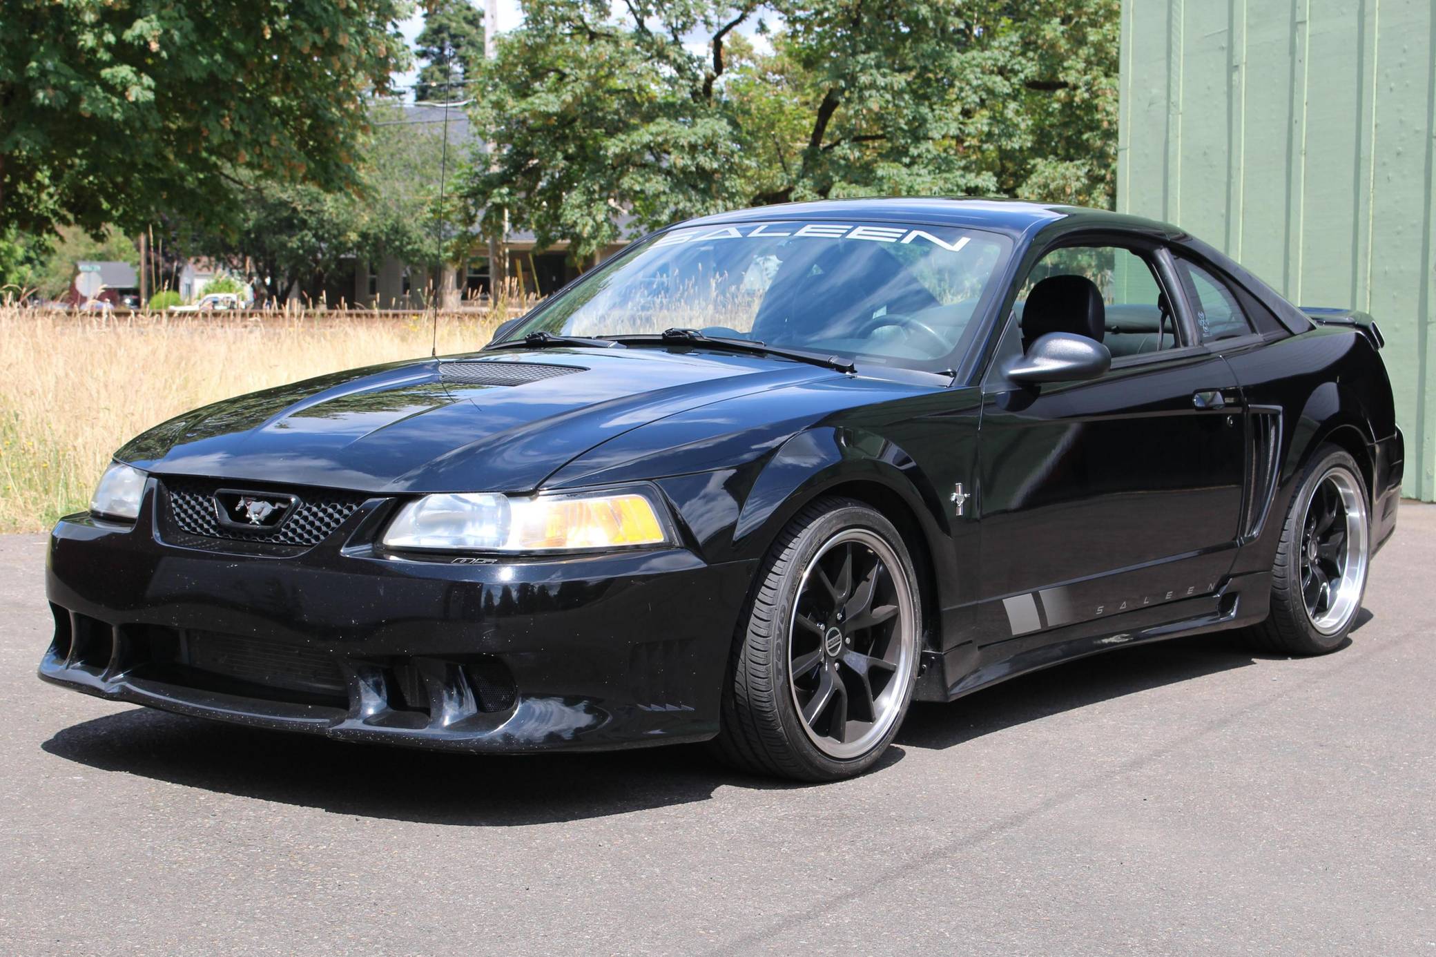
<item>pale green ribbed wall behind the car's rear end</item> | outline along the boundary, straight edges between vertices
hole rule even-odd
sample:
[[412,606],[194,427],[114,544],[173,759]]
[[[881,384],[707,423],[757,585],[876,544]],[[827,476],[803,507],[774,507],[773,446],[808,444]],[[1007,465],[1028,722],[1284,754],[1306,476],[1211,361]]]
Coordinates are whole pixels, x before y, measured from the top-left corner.
[[1436,500],[1433,0],[1124,0],[1117,208],[1376,316]]

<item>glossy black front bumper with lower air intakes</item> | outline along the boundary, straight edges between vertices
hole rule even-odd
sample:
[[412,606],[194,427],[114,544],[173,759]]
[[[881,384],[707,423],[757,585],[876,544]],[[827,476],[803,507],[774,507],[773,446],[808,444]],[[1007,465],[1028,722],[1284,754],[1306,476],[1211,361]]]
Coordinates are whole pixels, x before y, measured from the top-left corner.
[[686,549],[398,559],[353,545],[379,499],[302,555],[177,545],[149,484],[134,527],[76,514],[52,532],[43,680],[257,727],[467,752],[718,731],[751,562],[705,565]]

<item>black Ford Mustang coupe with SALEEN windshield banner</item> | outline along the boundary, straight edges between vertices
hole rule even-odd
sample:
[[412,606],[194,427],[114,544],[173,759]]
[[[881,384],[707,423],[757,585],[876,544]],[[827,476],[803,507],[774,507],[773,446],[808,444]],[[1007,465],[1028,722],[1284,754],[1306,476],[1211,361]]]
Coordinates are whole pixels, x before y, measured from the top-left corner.
[[1344,647],[1400,497],[1381,345],[1132,216],[691,220],[474,352],[123,445],[50,536],[39,671],[345,741],[841,779],[912,701],[1071,658]]

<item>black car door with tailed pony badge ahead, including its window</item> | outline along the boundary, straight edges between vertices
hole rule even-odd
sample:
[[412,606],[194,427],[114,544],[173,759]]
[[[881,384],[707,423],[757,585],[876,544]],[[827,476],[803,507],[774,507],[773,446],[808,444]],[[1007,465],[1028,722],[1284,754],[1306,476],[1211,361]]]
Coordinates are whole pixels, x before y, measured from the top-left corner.
[[[1001,369],[1021,355],[1025,292],[1073,274],[1100,292],[1110,371],[1011,384]],[[982,641],[1038,645],[1066,625],[1215,591],[1236,546],[1244,454],[1241,391],[1196,342],[1170,253],[1113,241],[1047,253],[984,381]]]

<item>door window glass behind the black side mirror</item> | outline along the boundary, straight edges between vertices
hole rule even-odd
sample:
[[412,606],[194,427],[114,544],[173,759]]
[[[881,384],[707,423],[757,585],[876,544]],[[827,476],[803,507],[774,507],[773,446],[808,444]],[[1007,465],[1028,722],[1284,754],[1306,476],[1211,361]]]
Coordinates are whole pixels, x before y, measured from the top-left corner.
[[1104,305],[1103,343],[1111,358],[1143,355],[1180,345],[1178,323],[1150,263],[1117,246],[1066,246],[1044,256],[1018,292],[1021,319],[1028,293],[1050,276],[1084,276]]

